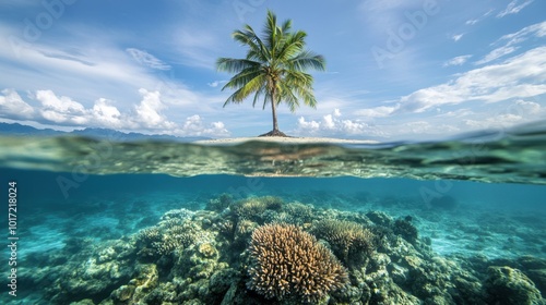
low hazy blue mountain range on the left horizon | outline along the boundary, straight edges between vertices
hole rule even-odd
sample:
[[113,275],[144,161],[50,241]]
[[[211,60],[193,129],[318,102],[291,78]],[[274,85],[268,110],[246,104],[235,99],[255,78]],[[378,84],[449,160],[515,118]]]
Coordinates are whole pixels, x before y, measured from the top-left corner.
[[141,133],[123,133],[108,129],[84,129],[72,132],[61,132],[51,129],[38,130],[32,126],[22,125],[19,123],[0,123],[0,135],[14,136],[59,136],[59,135],[79,135],[93,138],[114,138],[121,142],[133,141],[175,141],[175,142],[194,142],[200,139],[211,139],[204,136],[174,136],[165,134],[141,134]]

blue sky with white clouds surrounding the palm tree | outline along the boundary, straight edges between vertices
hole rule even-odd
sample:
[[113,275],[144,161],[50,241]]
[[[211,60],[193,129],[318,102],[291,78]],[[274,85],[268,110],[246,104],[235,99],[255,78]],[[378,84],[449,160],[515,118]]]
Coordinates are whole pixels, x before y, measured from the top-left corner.
[[278,110],[296,136],[432,139],[546,118],[546,1],[83,1],[0,3],[0,121],[212,137],[271,130],[223,103],[230,38],[266,10],[327,59],[317,109]]

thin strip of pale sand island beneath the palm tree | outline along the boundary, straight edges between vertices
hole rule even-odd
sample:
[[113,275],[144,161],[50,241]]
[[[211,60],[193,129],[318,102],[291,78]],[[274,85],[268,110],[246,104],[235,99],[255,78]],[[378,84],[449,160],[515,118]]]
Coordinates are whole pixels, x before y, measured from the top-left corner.
[[230,145],[241,144],[249,141],[274,142],[285,144],[377,144],[379,142],[371,139],[343,139],[333,137],[284,137],[284,136],[254,136],[254,137],[234,137],[195,141],[195,144],[203,145]]

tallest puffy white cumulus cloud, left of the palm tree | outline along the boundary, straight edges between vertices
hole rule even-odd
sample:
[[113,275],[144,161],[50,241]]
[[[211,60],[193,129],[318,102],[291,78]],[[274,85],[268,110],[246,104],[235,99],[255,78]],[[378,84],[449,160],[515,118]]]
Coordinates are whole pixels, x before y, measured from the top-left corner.
[[142,96],[142,100],[134,109],[136,111],[136,121],[141,125],[153,130],[168,130],[176,126],[174,122],[168,121],[161,113],[161,110],[165,109],[165,105],[161,100],[159,91],[149,91],[141,88],[139,93]]

